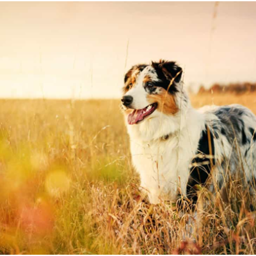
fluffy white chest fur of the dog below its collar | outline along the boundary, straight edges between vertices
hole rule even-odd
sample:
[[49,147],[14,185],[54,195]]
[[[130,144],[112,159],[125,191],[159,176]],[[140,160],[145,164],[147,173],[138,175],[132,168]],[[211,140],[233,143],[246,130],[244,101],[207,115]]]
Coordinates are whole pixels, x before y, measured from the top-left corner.
[[189,164],[195,156],[202,126],[182,125],[164,139],[145,140],[141,127],[129,125],[132,163],[140,173],[141,188],[152,204],[160,200],[175,202],[177,193],[186,195]]

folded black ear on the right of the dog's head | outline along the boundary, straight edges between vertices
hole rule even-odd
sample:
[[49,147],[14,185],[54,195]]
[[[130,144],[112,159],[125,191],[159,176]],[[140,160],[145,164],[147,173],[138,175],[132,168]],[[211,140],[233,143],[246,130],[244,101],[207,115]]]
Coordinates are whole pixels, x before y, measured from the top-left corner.
[[182,76],[182,68],[174,61],[160,60],[159,68],[163,70],[164,76],[166,76],[167,79],[174,79],[176,83],[179,83]]

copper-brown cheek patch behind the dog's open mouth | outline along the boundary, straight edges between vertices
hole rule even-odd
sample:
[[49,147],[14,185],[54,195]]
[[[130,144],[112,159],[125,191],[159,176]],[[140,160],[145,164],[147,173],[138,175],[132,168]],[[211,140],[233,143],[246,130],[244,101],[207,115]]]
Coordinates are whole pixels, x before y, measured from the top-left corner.
[[174,96],[162,90],[159,94],[147,95],[147,100],[150,104],[157,102],[157,110],[166,115],[175,115],[179,108],[175,103]]

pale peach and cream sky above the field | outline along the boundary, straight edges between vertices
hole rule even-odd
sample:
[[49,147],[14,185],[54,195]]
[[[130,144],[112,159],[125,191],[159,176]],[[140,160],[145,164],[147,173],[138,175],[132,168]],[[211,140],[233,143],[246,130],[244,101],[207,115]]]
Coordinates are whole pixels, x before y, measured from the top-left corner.
[[0,3],[0,98],[118,98],[137,63],[184,83],[256,81],[256,3]]

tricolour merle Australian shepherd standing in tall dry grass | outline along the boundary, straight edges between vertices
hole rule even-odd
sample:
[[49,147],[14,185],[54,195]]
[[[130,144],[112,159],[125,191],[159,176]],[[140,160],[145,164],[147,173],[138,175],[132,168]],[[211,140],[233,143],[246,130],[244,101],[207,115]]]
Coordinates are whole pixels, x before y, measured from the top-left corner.
[[256,116],[250,109],[193,108],[174,61],[134,65],[123,91],[132,163],[151,204],[180,196],[195,203],[196,185],[221,191],[237,175],[254,191]]

